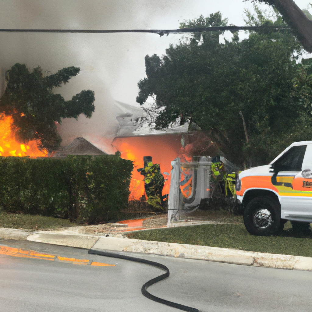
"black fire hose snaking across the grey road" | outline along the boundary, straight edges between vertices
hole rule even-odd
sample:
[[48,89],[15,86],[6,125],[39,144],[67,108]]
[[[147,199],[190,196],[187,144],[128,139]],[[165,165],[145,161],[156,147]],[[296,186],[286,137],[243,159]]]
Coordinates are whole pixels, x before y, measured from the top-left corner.
[[164,271],[166,271],[165,274],[159,275],[159,276],[153,278],[152,280],[149,280],[148,282],[146,282],[142,286],[142,288],[141,288],[142,294],[146,298],[149,298],[149,299],[151,299],[153,301],[162,303],[164,305],[169,305],[170,307],[173,307],[173,308],[177,308],[177,309],[180,309],[180,310],[183,310],[183,311],[188,311],[188,312],[200,312],[198,309],[195,309],[195,308],[192,308],[192,307],[188,307],[187,305],[180,305],[178,303],[175,303],[175,302],[172,302],[172,301],[168,301],[168,300],[156,297],[156,296],[150,294],[147,291],[147,288],[150,285],[153,285],[153,284],[159,282],[160,280],[163,280],[163,279],[169,277],[170,272],[169,272],[169,269],[167,268],[167,266],[164,266],[163,264],[158,263],[158,262],[154,262],[154,261],[149,261],[149,260],[145,260],[145,259],[141,259],[141,258],[135,258],[135,257],[129,257],[129,256],[121,255],[121,254],[116,253],[116,252],[99,251],[99,250],[95,250],[95,249],[90,249],[88,251],[88,254],[100,255],[100,256],[106,256],[106,257],[113,257],[113,258],[125,259],[125,260],[130,260],[130,261],[136,261],[136,262],[146,263],[146,264],[149,264],[151,266],[156,266],[156,267],[158,267],[160,269],[163,269]]

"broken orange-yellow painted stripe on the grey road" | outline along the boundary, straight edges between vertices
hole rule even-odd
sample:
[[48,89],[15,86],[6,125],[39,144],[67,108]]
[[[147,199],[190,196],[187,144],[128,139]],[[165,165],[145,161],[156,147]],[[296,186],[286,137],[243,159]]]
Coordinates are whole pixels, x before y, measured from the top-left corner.
[[22,257],[22,258],[35,258],[35,259],[43,259],[43,260],[50,260],[50,261],[54,261],[54,260],[66,261],[66,262],[72,262],[75,264],[83,264],[83,265],[91,265],[91,266],[115,266],[115,264],[95,262],[95,261],[86,260],[86,259],[53,256],[53,255],[45,254],[42,252],[24,250],[24,249],[7,247],[7,246],[0,246],[0,255]]

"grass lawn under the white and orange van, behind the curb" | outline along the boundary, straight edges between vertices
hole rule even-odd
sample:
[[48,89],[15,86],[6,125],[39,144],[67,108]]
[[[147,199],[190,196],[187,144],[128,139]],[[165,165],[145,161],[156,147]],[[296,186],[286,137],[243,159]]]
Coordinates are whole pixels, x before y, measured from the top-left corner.
[[140,231],[128,234],[127,237],[312,257],[312,233],[295,235],[291,231],[290,222],[285,224],[280,236],[253,236],[243,224],[207,224]]

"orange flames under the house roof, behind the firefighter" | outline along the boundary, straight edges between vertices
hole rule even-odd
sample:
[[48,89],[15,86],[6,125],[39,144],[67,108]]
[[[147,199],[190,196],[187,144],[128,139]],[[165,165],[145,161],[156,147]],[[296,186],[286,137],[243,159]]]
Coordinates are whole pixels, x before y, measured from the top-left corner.
[[[160,170],[170,173],[171,162],[178,157],[181,149],[181,134],[163,134],[114,139],[113,146],[121,152],[121,158],[134,162],[130,182],[129,200],[140,199],[145,195],[143,175],[137,169],[144,167],[143,156],[152,156],[153,163],[160,164]],[[170,175],[165,175],[163,195],[169,194]]]

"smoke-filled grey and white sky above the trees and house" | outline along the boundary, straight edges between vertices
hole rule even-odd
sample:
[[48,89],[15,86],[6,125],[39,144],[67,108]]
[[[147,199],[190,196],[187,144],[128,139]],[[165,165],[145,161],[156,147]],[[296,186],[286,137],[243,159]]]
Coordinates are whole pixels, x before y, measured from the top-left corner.
[[[297,0],[308,8],[310,0]],[[267,8],[266,5],[260,5]],[[243,26],[242,0],[1,0],[0,28],[53,29],[176,29],[179,22],[220,11],[229,24]],[[310,12],[312,12],[309,6]],[[230,38],[231,33],[224,35]],[[241,32],[241,37],[246,36]],[[63,143],[81,135],[105,145],[117,124],[114,100],[136,105],[137,83],[145,76],[144,56],[165,53],[181,35],[160,37],[147,33],[0,33],[0,92],[4,72],[15,63],[29,69],[40,65],[54,73],[66,66],[80,67],[80,74],[58,88],[66,99],[81,90],[95,91],[95,113],[91,119],[65,120],[60,133]]]

